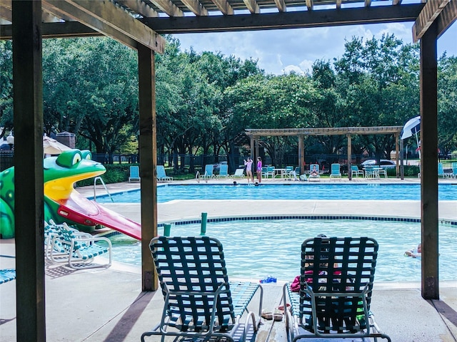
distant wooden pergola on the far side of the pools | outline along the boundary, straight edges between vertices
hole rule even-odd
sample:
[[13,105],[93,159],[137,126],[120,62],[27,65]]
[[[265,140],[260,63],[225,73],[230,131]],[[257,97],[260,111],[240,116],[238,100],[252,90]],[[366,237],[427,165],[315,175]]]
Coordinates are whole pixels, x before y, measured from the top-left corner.
[[[306,135],[346,135],[348,138],[348,170],[351,170],[351,155],[352,145],[351,140],[353,135],[373,135],[373,134],[393,134],[395,137],[395,155],[396,155],[396,173],[400,175],[400,165],[398,165],[398,142],[400,142],[400,150],[403,150],[403,140],[399,140],[403,126],[377,126],[377,127],[335,127],[335,128],[282,128],[282,129],[246,129],[246,135],[251,139],[251,151],[253,158],[256,160],[258,156],[258,141],[260,137],[298,137],[298,165],[301,167],[301,173],[305,172],[305,153],[303,149],[303,139]],[[252,154],[251,152],[251,154]],[[403,157],[401,159],[403,165]],[[403,171],[403,169],[402,169]],[[349,180],[351,180],[351,172],[348,172]],[[401,172],[403,179],[403,172]]]

